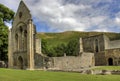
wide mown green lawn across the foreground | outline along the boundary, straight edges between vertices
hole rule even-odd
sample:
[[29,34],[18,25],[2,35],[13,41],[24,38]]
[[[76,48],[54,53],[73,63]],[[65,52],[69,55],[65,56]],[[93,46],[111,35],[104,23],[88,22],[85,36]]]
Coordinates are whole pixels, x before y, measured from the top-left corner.
[[0,69],[0,81],[120,81],[120,76]]

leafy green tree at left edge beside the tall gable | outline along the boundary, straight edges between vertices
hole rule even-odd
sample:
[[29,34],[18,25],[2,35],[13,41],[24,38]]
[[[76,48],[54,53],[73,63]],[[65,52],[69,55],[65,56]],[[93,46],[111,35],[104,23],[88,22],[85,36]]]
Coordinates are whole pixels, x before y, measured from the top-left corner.
[[10,22],[13,17],[14,12],[0,4],[0,60],[7,61],[8,27],[5,22]]

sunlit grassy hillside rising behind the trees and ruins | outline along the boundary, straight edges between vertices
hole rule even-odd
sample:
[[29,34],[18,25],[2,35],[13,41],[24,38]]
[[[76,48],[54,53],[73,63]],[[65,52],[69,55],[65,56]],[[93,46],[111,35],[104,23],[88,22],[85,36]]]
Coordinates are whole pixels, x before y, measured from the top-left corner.
[[[103,32],[75,32],[68,31],[62,33],[38,33],[37,37],[45,39],[48,42],[49,47],[54,47],[58,44],[64,43],[67,44],[72,39],[79,39],[80,37],[88,37],[93,35],[103,34]],[[104,33],[110,39],[120,39],[119,33]]]

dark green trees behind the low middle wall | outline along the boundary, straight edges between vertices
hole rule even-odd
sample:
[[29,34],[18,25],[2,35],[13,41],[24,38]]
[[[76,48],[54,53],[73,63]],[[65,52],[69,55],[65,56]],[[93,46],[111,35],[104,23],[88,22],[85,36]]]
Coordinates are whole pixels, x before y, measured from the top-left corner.
[[60,57],[66,54],[67,56],[77,56],[79,54],[79,40],[72,39],[67,44],[61,43],[55,47],[49,48],[47,41],[42,39],[42,53],[50,57]]

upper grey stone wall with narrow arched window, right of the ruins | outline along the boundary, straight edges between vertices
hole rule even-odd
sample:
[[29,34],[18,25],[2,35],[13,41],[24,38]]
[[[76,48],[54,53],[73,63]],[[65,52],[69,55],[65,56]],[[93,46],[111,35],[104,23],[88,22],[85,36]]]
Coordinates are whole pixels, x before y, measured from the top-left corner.
[[83,50],[84,52],[96,52],[96,41],[98,41],[98,52],[104,51],[104,35],[96,35],[87,38],[83,38]]

